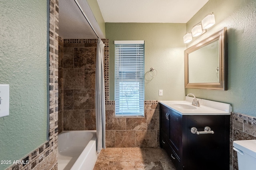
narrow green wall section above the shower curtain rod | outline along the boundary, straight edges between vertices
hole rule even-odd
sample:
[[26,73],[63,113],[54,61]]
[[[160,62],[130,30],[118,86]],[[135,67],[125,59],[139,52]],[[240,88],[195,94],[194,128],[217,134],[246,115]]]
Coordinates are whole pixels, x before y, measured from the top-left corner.
[[100,26],[100,29],[104,35],[104,37],[106,37],[106,33],[105,33],[105,21],[102,17],[101,11],[100,11],[100,7],[98,5],[98,2],[96,0],[87,0],[92,13],[94,14],[94,17],[98,23],[98,25]]

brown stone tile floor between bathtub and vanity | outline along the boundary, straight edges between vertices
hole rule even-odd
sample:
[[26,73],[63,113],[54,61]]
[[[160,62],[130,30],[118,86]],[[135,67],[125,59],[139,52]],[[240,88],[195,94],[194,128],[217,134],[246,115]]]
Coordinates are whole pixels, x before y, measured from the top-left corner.
[[176,170],[161,148],[102,149],[94,170]]

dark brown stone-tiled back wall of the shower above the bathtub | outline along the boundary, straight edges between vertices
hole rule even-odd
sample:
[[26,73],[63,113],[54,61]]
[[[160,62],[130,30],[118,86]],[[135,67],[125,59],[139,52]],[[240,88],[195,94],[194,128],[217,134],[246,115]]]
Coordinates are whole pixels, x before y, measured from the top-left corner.
[[[103,42],[108,51],[108,40]],[[63,45],[63,130],[96,130],[97,39],[64,39]]]

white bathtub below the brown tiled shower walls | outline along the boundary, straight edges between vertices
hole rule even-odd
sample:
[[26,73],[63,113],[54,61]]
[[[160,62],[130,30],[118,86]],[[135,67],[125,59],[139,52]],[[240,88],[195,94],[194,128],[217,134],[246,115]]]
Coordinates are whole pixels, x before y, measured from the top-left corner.
[[97,160],[96,131],[63,131],[58,135],[58,170],[92,170]]

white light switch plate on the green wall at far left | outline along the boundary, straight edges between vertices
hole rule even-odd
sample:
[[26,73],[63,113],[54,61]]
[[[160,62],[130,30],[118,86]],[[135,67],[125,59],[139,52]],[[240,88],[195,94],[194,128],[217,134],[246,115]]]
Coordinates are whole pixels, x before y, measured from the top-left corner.
[[0,117],[9,115],[9,84],[0,84]]

